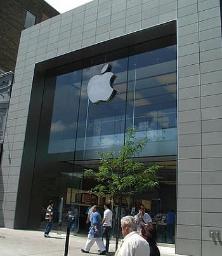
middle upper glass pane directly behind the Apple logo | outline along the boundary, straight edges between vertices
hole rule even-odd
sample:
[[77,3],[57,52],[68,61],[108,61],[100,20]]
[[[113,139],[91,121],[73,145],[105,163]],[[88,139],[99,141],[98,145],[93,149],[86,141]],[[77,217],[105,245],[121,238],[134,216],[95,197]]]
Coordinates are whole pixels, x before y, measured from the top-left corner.
[[[104,64],[89,67],[82,72],[82,90],[77,133],[75,159],[98,158],[96,150],[117,149],[123,144],[125,129],[125,98],[119,97],[121,90],[126,91],[127,59],[111,62],[115,74],[114,89],[117,91],[110,102],[92,103],[87,94],[87,86],[91,77],[101,76]],[[100,77],[98,77],[100,79]],[[107,81],[108,83],[108,81]],[[104,86],[109,86],[104,84]],[[98,91],[98,97],[100,97]]]

